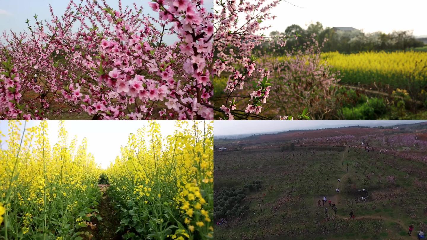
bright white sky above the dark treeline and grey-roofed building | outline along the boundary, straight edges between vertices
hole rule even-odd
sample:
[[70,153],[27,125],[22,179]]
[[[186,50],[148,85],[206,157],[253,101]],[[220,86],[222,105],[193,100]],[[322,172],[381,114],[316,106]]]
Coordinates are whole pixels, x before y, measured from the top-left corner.
[[275,20],[265,33],[284,32],[287,26],[319,21],[324,27],[354,27],[364,32],[413,30],[413,35],[427,35],[427,0],[287,0],[272,10]]

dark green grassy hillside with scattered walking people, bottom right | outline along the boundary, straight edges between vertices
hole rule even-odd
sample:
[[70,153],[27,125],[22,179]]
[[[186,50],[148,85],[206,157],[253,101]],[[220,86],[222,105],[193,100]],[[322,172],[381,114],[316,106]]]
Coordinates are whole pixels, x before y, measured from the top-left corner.
[[[381,134],[372,134],[374,143]],[[355,144],[350,149],[311,146],[322,145],[319,139],[296,143],[294,151],[282,151],[283,141],[257,141],[241,151],[215,152],[215,214],[224,211],[224,196],[242,187],[238,204],[249,207],[243,215],[222,216],[227,222],[215,226],[215,239],[414,239],[407,227],[414,224],[418,231],[427,226],[425,189],[420,187],[427,181],[425,162],[366,152]],[[216,142],[217,147],[232,144]],[[260,188],[245,187],[254,180],[262,181]],[[357,191],[362,189],[368,191],[366,201]],[[325,205],[326,217],[325,207],[317,206],[322,196],[336,203],[336,215]],[[232,212],[233,206],[227,209]],[[348,219],[351,211],[354,220]]]

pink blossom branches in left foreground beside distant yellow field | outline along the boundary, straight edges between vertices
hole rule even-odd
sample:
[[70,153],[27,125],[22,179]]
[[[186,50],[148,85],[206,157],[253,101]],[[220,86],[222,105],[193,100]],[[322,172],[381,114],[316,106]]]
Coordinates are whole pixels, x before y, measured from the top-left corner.
[[[263,106],[272,90],[270,71],[257,66],[254,47],[274,42],[284,46],[286,36],[266,37],[264,21],[274,19],[270,10],[281,0],[215,0],[213,36],[214,58],[212,73],[226,76],[225,96],[214,97],[214,110],[223,119],[269,119],[262,115]],[[249,82],[249,86],[245,83]],[[253,84],[252,84],[253,83]],[[251,85],[252,84],[252,85]],[[246,84],[248,85],[248,84]],[[244,91],[243,88],[250,90]],[[249,92],[249,96],[245,93]],[[237,109],[237,103],[244,108]],[[293,119],[291,116],[281,119]],[[307,108],[296,119],[310,119]]]

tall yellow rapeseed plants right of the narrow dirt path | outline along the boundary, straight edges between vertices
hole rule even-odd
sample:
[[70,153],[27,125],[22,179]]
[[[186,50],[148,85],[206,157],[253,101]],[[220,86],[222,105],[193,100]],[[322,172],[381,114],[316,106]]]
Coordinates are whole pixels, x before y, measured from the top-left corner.
[[177,122],[162,138],[152,122],[121,152],[106,173],[123,237],[213,239],[212,123]]

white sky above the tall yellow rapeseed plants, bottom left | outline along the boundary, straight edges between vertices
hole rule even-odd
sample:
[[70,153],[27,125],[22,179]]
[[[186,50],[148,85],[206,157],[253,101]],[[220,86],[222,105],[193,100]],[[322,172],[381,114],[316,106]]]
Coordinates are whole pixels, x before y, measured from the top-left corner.
[[[175,121],[159,120],[162,136],[173,134]],[[198,121],[203,128],[203,121]],[[40,123],[38,120],[27,122],[27,127],[36,126]],[[48,135],[50,145],[58,142],[58,126],[59,120],[49,120]],[[107,168],[117,155],[120,155],[120,146],[126,146],[128,136],[131,133],[137,132],[143,126],[148,126],[148,121],[132,120],[132,121],[93,121],[93,120],[66,120],[65,129],[68,132],[68,140],[70,141],[77,135],[77,141],[80,144],[83,138],[88,140],[88,152],[94,155],[95,161],[101,164],[102,168]],[[21,125],[23,129],[23,124]],[[0,120],[0,130],[4,135],[8,133],[7,120]],[[2,138],[2,140],[5,140]],[[3,141],[2,149],[7,149],[5,141]]]

